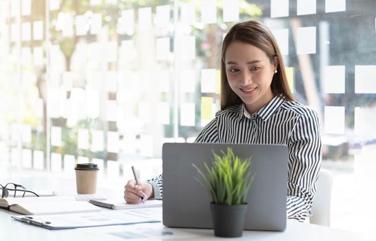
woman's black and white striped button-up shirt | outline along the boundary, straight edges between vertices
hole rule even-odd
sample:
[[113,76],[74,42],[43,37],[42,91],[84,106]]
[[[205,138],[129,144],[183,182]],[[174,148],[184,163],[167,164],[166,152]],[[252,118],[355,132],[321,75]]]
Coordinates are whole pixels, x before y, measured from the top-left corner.
[[[235,105],[217,112],[195,142],[287,145],[287,217],[304,221],[310,216],[321,164],[319,118],[312,109],[281,96],[252,115]],[[162,198],[162,175],[148,182],[155,198]]]

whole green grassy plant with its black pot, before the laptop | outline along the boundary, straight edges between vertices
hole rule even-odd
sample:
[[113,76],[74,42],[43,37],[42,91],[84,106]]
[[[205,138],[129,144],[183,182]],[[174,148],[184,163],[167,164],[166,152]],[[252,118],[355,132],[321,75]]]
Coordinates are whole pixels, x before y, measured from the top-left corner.
[[219,237],[241,237],[246,218],[248,190],[253,182],[251,158],[241,159],[228,147],[227,152],[215,154],[212,165],[204,163],[197,169],[196,179],[207,187],[212,197],[210,209],[214,233]]

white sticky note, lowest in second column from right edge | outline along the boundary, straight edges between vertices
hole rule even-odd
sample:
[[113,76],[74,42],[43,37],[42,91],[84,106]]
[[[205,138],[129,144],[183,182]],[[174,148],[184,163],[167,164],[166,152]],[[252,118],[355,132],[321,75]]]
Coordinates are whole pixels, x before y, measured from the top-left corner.
[[324,107],[324,133],[344,134],[345,133],[345,107],[325,106]]

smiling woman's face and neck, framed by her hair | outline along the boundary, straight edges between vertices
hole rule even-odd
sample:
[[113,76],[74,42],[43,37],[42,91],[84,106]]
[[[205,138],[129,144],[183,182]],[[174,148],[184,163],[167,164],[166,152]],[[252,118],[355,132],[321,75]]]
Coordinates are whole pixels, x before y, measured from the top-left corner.
[[241,41],[233,41],[225,53],[226,76],[230,88],[241,98],[250,114],[273,99],[270,89],[277,60],[271,63],[266,53]]

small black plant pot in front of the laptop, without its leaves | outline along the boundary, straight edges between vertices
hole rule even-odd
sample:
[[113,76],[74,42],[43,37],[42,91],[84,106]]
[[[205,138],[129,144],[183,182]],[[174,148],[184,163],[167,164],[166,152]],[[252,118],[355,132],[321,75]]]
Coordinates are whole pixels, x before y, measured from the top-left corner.
[[212,211],[214,234],[217,237],[241,237],[243,235],[247,207],[247,204],[217,205],[211,202],[210,209]]

